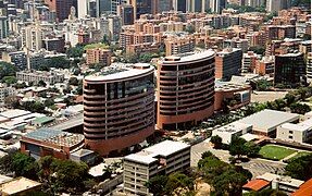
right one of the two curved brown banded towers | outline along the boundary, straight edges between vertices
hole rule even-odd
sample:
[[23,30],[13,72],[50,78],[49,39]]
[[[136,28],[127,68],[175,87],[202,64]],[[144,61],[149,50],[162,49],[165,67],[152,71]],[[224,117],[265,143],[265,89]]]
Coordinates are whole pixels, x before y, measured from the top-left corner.
[[214,52],[164,58],[158,64],[157,95],[161,130],[184,130],[209,118],[214,111]]

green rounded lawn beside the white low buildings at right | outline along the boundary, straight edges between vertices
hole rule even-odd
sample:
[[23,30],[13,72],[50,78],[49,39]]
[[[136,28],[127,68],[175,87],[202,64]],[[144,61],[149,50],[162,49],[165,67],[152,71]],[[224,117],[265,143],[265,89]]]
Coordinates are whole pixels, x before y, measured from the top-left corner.
[[262,158],[270,159],[270,160],[280,160],[295,152],[296,150],[294,149],[288,149],[288,148],[285,148],[282,146],[275,146],[275,145],[265,145],[259,151]]

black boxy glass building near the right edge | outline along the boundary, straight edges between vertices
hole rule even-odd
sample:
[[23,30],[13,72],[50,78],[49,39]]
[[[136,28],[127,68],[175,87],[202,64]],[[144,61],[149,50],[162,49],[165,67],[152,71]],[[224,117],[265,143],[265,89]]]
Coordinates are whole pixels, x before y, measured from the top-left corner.
[[303,53],[275,56],[274,85],[296,87],[305,83],[307,65]]

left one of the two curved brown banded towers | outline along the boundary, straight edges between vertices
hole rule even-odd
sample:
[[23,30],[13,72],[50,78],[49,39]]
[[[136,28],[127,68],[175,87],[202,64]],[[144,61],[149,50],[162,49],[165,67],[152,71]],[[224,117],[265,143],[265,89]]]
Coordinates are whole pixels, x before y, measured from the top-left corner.
[[154,132],[154,69],[112,64],[84,81],[86,146],[102,156],[143,142]]

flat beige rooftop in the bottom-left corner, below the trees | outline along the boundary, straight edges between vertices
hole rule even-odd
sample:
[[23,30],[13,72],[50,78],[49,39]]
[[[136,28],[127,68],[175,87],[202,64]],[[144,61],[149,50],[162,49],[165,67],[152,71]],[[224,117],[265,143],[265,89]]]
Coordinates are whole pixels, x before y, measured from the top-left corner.
[[4,184],[1,184],[0,191],[2,194],[13,195],[13,194],[18,194],[18,193],[27,191],[27,189],[35,188],[35,187],[40,186],[40,185],[41,184],[36,182],[36,181],[32,181],[32,180],[26,179],[26,177],[18,177],[18,179],[14,179],[10,182],[7,182]]

